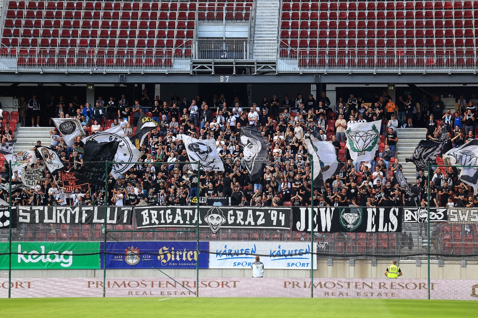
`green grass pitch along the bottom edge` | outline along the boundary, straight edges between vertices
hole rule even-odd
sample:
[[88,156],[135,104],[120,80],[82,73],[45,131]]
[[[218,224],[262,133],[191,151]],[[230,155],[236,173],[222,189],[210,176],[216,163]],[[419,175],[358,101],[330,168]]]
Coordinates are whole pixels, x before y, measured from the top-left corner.
[[1,299],[1,317],[478,317],[478,302],[324,298]]

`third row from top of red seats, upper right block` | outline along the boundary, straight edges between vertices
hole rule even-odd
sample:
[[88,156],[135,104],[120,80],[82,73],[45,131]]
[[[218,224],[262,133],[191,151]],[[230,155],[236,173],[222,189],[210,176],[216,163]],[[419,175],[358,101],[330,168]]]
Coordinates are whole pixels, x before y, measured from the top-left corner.
[[[281,29],[375,29],[389,28],[385,21],[282,21]],[[408,20],[391,21],[395,28],[426,28],[426,29],[454,29],[454,28],[474,28],[478,27],[478,23],[474,20]],[[405,24],[404,24],[405,23]]]

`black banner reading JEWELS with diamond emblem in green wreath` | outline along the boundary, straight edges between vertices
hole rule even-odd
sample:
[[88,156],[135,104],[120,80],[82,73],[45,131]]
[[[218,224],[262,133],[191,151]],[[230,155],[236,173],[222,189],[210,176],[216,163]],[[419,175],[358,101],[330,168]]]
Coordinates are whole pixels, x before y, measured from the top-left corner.
[[[401,207],[315,207],[315,232],[401,232]],[[311,231],[311,209],[292,208],[292,230]]]

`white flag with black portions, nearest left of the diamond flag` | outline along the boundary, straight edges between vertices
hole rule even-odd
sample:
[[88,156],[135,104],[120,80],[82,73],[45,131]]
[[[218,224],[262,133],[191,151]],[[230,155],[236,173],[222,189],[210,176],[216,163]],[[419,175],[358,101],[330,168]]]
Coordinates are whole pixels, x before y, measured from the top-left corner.
[[328,141],[320,141],[311,134],[304,135],[309,153],[309,161],[313,162],[314,186],[322,186],[323,181],[334,176],[343,167],[342,160],[337,158],[335,147]]

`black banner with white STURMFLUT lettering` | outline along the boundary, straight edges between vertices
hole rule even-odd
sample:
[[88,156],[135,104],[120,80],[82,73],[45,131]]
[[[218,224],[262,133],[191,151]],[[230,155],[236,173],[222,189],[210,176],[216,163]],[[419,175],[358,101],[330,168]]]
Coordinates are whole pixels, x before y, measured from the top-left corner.
[[[132,207],[107,207],[107,224],[132,224],[132,221]],[[104,224],[104,206],[18,206],[18,223]]]

